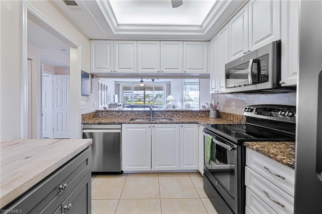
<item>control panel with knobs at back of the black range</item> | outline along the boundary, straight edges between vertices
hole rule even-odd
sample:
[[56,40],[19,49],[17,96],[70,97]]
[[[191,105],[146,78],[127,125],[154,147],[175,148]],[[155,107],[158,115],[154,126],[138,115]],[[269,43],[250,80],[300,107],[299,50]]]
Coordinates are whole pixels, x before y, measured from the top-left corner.
[[282,105],[251,105],[244,109],[244,116],[295,123],[296,107]]

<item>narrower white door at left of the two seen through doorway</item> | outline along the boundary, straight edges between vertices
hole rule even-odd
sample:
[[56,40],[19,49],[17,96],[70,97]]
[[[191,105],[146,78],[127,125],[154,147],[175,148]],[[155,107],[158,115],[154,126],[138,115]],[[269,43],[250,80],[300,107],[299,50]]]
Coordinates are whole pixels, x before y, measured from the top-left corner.
[[52,138],[52,75],[43,76],[43,138]]

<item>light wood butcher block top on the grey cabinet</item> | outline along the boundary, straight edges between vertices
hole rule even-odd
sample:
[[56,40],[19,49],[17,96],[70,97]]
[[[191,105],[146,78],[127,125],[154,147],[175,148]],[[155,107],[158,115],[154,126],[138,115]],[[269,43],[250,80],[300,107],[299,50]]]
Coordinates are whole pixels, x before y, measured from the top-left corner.
[[1,142],[0,208],[42,181],[91,144],[91,139]]

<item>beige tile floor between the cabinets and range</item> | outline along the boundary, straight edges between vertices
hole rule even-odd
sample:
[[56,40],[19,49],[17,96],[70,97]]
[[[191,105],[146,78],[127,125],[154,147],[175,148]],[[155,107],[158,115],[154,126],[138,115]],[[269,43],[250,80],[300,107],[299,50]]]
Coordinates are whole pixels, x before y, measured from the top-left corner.
[[218,214],[199,172],[92,176],[92,214]]

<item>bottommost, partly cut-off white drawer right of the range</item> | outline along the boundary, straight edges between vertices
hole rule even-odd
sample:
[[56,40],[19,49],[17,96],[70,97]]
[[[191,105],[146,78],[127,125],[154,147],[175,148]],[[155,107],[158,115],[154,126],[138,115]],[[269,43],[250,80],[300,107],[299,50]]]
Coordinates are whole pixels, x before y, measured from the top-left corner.
[[277,214],[270,206],[261,200],[255,193],[246,187],[246,214]]

